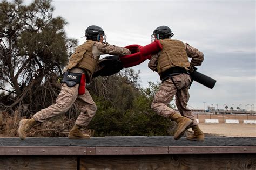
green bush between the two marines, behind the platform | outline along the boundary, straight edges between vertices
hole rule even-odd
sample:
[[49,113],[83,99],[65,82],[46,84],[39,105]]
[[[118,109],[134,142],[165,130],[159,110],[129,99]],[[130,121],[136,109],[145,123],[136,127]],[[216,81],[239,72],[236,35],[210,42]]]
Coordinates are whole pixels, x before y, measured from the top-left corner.
[[[130,71],[127,69],[123,72],[126,72],[125,75],[129,75]],[[120,73],[112,77],[100,77],[96,80],[98,82],[93,82],[90,85],[90,87],[95,87],[95,84],[99,86],[99,82],[102,82],[104,86],[108,87],[106,90],[112,91],[106,95],[107,91],[103,89],[100,93],[99,90],[91,89],[93,91],[90,93],[97,105],[96,115],[89,124],[89,128],[95,130],[94,136],[172,135],[172,129],[176,124],[170,119],[157,115],[150,109],[159,83],[149,82],[149,87],[140,88],[139,84],[136,83],[139,79],[138,73],[134,74],[133,70],[132,73],[137,78],[129,83],[123,79],[124,73]],[[118,77],[119,79],[117,79]],[[111,83],[113,81],[115,83]]]

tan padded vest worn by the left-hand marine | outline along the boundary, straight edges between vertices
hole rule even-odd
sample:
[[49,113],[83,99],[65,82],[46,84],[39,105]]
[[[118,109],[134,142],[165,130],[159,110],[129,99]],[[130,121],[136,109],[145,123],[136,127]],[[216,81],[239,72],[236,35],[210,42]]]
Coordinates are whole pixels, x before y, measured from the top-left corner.
[[92,46],[94,43],[95,41],[88,40],[84,42],[84,44],[78,46],[75,53],[71,55],[66,69],[72,69],[74,67],[83,68],[88,71],[89,76],[91,76],[95,72],[97,66],[97,61],[92,54]]

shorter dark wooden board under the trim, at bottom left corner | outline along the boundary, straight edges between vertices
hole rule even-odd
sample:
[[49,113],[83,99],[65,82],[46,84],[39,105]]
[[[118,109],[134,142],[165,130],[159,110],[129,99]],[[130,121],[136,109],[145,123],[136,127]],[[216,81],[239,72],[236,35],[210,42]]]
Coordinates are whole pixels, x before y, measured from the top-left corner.
[[0,169],[77,169],[76,157],[0,157]]

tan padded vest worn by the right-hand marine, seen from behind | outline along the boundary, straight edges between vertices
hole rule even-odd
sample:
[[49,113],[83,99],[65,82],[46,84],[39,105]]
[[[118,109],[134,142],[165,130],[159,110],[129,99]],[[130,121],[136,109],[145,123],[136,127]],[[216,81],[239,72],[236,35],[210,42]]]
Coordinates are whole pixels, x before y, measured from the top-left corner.
[[185,45],[182,41],[163,39],[160,40],[160,43],[163,46],[163,49],[160,51],[160,56],[158,58],[158,74],[176,66],[183,67],[188,70],[190,62],[188,61]]

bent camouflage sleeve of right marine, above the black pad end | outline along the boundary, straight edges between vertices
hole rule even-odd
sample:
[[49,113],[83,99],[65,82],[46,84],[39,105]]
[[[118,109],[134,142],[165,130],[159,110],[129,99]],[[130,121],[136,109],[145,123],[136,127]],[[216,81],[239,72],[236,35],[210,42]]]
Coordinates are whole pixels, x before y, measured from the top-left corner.
[[202,62],[204,61],[204,54],[200,52],[198,49],[188,45],[185,43],[187,56],[192,58],[190,63],[193,66],[201,66]]

